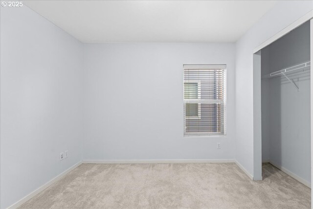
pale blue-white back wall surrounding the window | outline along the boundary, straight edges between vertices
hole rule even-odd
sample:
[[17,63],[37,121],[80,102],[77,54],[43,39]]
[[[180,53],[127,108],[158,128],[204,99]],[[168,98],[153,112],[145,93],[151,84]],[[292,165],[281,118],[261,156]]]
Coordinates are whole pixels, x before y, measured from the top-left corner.
[[[84,44],[84,160],[234,159],[234,49],[205,43]],[[227,65],[226,137],[183,137],[184,64]]]

